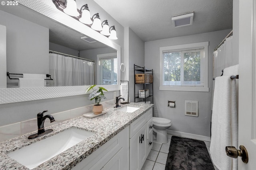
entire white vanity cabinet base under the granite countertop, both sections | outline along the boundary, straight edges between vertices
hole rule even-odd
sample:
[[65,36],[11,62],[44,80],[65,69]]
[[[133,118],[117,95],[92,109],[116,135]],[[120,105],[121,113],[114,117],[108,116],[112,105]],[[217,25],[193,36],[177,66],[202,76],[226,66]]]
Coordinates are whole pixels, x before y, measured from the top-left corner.
[[140,170],[153,146],[152,117],[153,108],[72,170]]

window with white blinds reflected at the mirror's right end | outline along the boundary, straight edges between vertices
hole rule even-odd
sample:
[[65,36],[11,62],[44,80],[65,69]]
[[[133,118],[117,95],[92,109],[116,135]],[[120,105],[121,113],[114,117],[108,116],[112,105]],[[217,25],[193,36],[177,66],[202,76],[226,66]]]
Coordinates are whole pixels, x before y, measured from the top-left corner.
[[117,84],[117,57],[100,58],[100,84]]

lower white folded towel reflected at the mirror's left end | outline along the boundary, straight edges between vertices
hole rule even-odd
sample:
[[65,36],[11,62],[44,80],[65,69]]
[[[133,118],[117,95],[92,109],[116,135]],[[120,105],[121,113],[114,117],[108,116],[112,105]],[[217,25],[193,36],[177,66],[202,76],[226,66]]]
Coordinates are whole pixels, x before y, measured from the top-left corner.
[[44,87],[44,78],[19,78],[19,87]]

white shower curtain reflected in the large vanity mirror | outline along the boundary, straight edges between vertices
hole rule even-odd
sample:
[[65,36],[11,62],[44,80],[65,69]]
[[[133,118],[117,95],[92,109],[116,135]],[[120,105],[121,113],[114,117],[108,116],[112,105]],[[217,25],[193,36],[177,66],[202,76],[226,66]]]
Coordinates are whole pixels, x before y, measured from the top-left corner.
[[94,84],[94,66],[91,61],[49,54],[52,81],[50,86],[83,86]]

